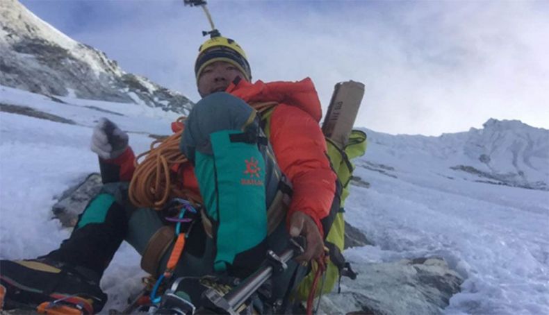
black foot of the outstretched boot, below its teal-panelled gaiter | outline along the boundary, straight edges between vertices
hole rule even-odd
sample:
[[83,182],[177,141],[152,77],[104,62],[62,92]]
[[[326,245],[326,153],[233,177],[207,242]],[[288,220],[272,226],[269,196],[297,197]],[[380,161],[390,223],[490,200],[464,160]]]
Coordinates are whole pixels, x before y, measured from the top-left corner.
[[48,257],[0,260],[0,284],[6,288],[3,309],[95,314],[107,300],[99,288],[97,273]]

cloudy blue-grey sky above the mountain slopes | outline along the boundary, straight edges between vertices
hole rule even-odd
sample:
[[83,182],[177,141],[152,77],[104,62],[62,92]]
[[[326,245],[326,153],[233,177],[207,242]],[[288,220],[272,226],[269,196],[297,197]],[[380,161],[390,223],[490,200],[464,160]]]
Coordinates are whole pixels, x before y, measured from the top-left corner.
[[[198,101],[209,24],[183,0],[22,0],[129,72]],[[254,80],[366,85],[355,126],[441,135],[489,118],[549,129],[549,1],[229,1],[208,8],[245,49]]]

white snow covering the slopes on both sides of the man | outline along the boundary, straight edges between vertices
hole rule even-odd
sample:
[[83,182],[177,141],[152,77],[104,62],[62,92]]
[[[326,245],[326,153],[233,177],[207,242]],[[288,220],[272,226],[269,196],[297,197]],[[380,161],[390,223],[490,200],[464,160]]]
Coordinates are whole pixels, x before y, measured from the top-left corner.
[[[44,255],[69,236],[51,220],[51,206],[65,189],[99,171],[89,149],[99,117],[128,131],[136,153],[149,148],[149,134],[169,135],[177,117],[135,104],[62,101],[0,86],[1,259]],[[74,124],[6,112],[6,105]],[[549,314],[548,130],[489,121],[482,130],[441,137],[366,132],[368,151],[355,161],[359,178],[346,218],[376,246],[347,250],[352,263],[441,256],[466,278],[447,314]],[[493,141],[482,133],[494,135]],[[483,154],[489,159],[479,160]],[[458,165],[480,173],[452,169]],[[123,244],[101,281],[110,298],[106,309],[124,308],[139,291],[145,275],[139,262]]]

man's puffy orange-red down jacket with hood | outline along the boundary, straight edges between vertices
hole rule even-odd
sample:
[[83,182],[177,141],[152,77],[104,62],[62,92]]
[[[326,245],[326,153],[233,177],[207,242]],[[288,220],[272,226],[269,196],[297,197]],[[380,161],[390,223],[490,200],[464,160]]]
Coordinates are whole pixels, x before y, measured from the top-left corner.
[[[276,101],[279,103],[270,117],[269,141],[281,171],[293,186],[292,201],[287,218],[296,211],[304,212],[316,222],[324,235],[320,219],[328,215],[336,190],[336,174],[326,155],[326,142],[319,121],[322,117],[320,101],[313,82],[305,78],[299,82],[249,83],[240,80],[227,87],[226,92],[247,103]],[[183,126],[172,123],[177,132]],[[131,180],[133,152],[126,152],[115,160],[104,162],[120,166],[120,179]],[[183,167],[183,186],[198,191],[198,184],[190,163]]]

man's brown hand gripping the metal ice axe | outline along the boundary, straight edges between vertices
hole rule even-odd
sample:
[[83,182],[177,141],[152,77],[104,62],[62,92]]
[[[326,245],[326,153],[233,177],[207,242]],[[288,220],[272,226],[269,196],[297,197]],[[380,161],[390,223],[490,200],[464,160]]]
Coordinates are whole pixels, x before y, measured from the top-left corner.
[[297,211],[290,216],[290,237],[303,235],[306,239],[305,253],[295,257],[297,262],[309,262],[311,259],[318,258],[324,252],[324,241],[318,230],[315,221],[304,214]]

